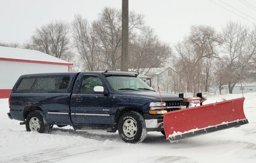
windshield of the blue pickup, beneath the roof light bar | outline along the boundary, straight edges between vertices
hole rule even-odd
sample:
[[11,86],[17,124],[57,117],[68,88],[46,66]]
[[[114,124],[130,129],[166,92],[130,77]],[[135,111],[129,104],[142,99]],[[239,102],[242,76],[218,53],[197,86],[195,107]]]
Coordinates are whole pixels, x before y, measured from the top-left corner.
[[117,91],[154,91],[143,80],[135,76],[108,76],[107,79]]

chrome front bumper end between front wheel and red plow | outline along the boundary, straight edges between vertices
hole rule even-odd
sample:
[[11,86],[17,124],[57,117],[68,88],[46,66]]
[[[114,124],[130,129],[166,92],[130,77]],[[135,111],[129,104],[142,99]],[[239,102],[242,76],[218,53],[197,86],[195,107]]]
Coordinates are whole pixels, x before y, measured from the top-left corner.
[[147,131],[163,131],[163,119],[145,119]]

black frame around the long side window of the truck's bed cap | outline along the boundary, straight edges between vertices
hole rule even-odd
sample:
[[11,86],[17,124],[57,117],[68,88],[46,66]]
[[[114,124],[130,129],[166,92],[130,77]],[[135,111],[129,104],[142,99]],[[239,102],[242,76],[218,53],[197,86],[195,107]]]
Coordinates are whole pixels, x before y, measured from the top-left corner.
[[[67,84],[67,88],[66,88],[66,89],[61,89],[61,90],[33,90],[33,89],[29,89],[29,90],[25,90],[25,89],[18,90],[18,87],[19,87],[19,85],[20,85],[20,83],[21,83],[21,81],[22,81],[23,79],[35,79],[34,83],[32,84],[32,86],[33,86],[33,85],[35,84],[37,78],[50,78],[50,77],[68,77],[69,81],[68,81],[68,84]],[[69,89],[69,87],[70,87],[70,80],[71,80],[71,78],[70,78],[69,75],[29,76],[29,77],[28,77],[28,76],[24,76],[24,77],[20,78],[20,80],[19,80],[19,82],[18,82],[18,84],[17,84],[15,90],[16,90],[17,92],[22,92],[22,91],[30,91],[30,92],[31,92],[31,91],[33,91],[33,92],[67,91],[67,90]]]

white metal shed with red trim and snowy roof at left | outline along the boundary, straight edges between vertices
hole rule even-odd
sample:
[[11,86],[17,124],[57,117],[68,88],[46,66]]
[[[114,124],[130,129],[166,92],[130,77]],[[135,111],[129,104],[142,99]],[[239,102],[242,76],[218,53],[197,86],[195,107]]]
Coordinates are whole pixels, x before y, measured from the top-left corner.
[[17,79],[30,73],[68,72],[72,63],[40,51],[0,46],[0,98],[8,98]]

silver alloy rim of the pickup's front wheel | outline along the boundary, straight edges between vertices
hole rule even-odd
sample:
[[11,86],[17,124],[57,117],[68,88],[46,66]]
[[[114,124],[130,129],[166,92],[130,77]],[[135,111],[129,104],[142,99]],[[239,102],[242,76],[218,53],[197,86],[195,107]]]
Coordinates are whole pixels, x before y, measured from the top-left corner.
[[127,119],[123,123],[123,132],[128,138],[134,137],[137,133],[137,124],[132,119]]

